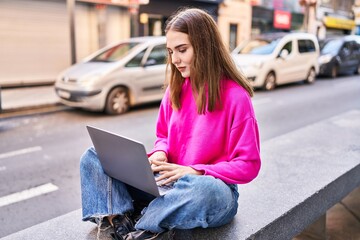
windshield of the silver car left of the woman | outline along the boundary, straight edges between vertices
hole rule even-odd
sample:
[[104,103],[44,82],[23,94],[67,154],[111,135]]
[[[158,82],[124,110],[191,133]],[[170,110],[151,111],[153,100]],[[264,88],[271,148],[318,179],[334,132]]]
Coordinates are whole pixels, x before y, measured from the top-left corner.
[[119,61],[120,59],[125,57],[131,51],[131,49],[138,44],[139,43],[137,42],[121,43],[98,54],[96,57],[90,59],[90,62]]

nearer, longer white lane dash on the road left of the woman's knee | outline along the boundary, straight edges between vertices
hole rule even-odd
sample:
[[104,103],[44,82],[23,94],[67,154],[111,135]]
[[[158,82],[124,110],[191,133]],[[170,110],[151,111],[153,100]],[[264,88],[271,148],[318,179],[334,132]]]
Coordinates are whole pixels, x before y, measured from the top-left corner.
[[33,197],[37,197],[46,193],[54,192],[59,188],[52,184],[47,183],[38,187],[30,188],[21,192],[13,193],[0,198],[0,207],[10,205],[16,202],[24,201]]

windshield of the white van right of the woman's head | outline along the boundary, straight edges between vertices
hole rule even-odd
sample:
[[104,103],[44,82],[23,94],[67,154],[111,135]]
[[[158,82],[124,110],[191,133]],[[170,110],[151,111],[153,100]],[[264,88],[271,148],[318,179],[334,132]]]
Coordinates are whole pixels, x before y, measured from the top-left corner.
[[280,39],[266,40],[266,39],[255,39],[247,42],[239,51],[239,54],[256,54],[256,55],[267,55],[271,54]]

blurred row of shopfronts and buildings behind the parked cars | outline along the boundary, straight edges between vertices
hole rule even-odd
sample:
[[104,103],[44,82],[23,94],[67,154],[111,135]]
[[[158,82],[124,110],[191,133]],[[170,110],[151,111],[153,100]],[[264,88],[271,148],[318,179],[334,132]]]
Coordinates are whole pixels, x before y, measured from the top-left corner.
[[54,83],[108,44],[163,35],[180,6],[211,13],[229,50],[266,32],[360,34],[359,0],[1,0],[0,85]]

